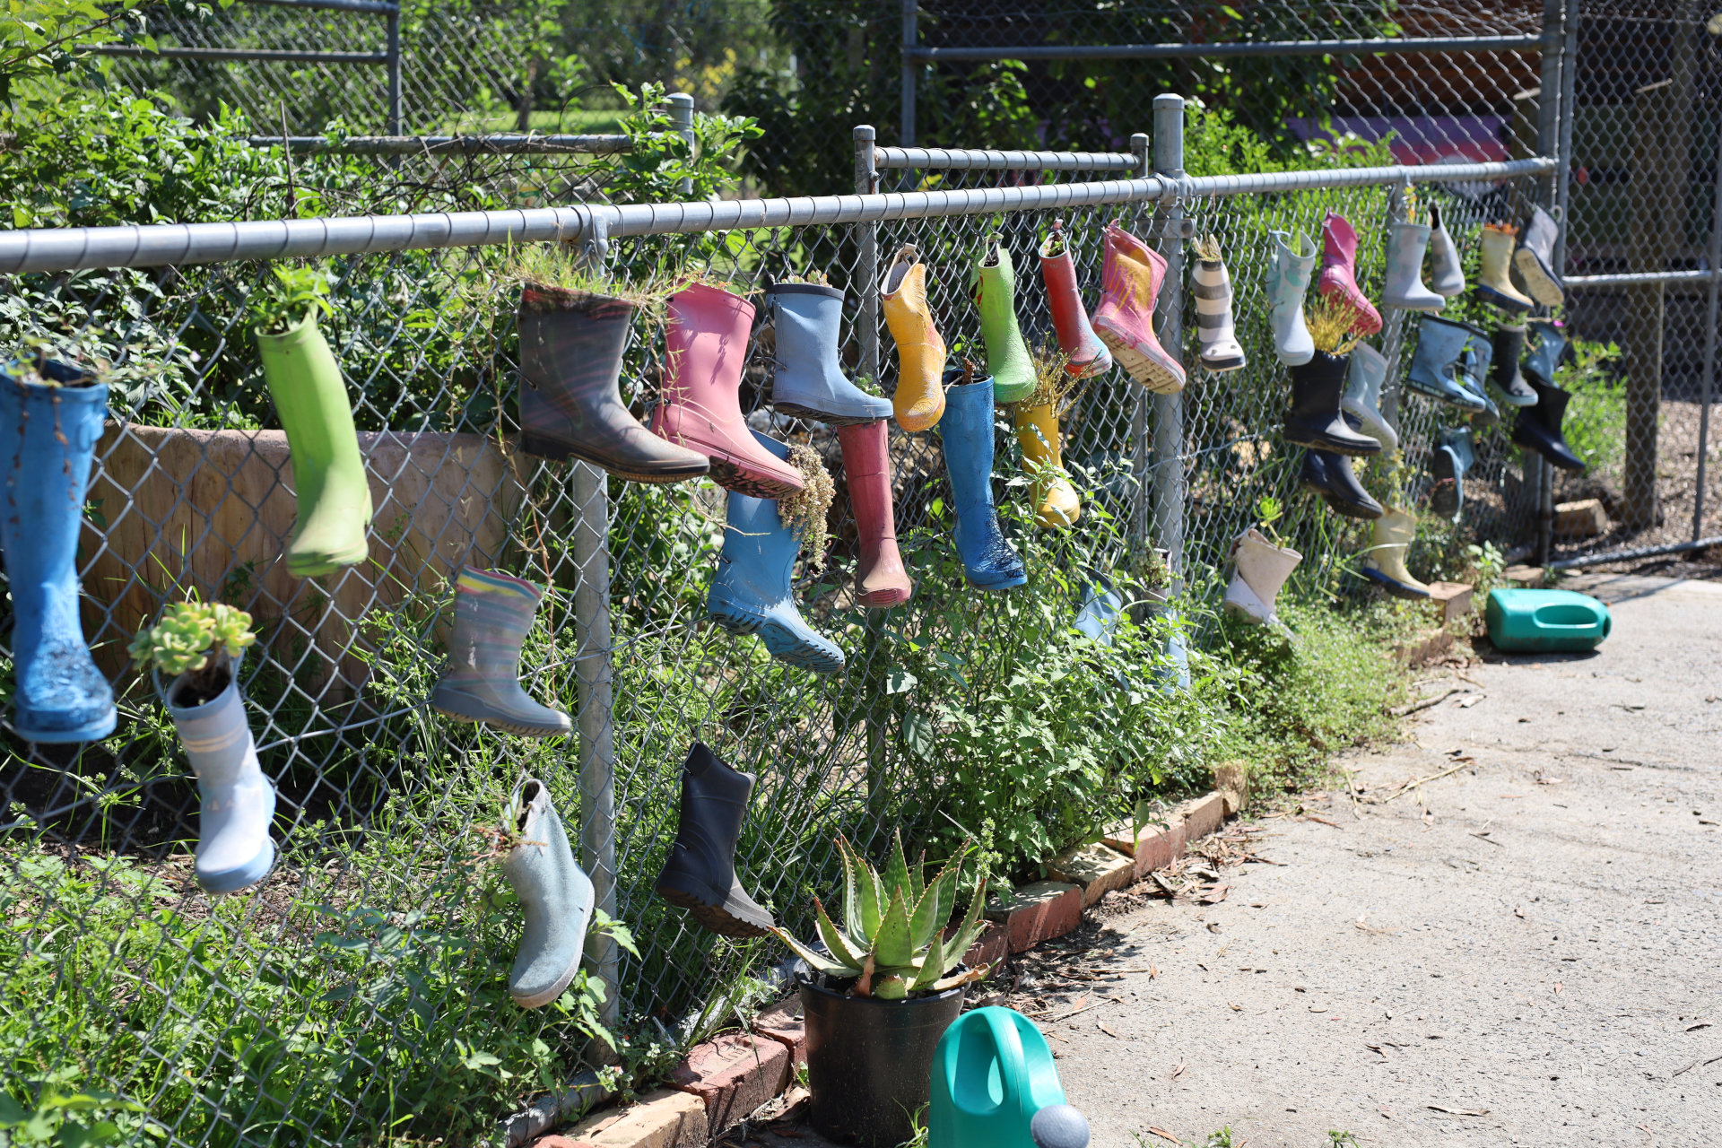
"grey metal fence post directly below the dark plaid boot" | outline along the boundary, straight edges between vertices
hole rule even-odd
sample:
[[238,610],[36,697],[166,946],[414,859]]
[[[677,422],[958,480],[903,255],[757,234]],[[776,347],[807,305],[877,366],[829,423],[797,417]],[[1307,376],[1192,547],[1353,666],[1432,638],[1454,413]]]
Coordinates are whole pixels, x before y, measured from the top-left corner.
[[[611,699],[610,487],[604,472],[572,463],[573,496],[573,675],[580,707],[580,866],[592,878],[594,904],[616,916],[616,730]],[[604,984],[606,1026],[622,1017],[622,952],[591,935],[585,954]]]

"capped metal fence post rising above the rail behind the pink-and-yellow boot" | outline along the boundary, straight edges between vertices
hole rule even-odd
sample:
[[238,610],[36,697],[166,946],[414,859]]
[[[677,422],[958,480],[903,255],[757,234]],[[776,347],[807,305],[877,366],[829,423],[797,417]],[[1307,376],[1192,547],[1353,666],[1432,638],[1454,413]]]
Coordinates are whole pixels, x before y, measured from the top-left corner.
[[[1154,96],[1154,174],[1181,179],[1183,170],[1183,96]],[[1183,217],[1176,200],[1164,212],[1168,224]],[[1166,281],[1161,284],[1161,344],[1174,360],[1183,358],[1183,239],[1169,225],[1161,239],[1166,256]],[[1166,549],[1173,585],[1183,589],[1185,473],[1183,473],[1183,392],[1154,396],[1154,532]]]

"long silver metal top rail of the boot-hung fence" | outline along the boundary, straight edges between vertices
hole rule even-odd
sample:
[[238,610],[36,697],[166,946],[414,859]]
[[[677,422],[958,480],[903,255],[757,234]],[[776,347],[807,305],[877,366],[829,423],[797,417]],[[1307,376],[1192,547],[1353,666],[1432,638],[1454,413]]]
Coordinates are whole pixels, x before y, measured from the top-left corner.
[[0,274],[95,267],[174,267],[239,260],[317,258],[370,251],[565,243],[604,236],[665,236],[751,227],[868,224],[935,215],[992,215],[1112,203],[1173,203],[1255,191],[1307,191],[1402,182],[1481,182],[1553,170],[1550,158],[1505,164],[1353,167],[1252,176],[1097,179],[1085,184],[968,188],[887,194],[582,205],[511,212],[434,212],[234,224],[143,224],[0,231]]

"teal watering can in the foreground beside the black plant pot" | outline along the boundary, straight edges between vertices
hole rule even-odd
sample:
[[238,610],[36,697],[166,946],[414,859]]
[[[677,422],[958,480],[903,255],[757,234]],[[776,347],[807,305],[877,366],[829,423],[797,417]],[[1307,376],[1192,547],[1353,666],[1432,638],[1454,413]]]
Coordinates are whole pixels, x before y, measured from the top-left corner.
[[1064,1103],[1052,1050],[1014,1009],[957,1017],[933,1050],[928,1148],[1087,1148],[1088,1120]]

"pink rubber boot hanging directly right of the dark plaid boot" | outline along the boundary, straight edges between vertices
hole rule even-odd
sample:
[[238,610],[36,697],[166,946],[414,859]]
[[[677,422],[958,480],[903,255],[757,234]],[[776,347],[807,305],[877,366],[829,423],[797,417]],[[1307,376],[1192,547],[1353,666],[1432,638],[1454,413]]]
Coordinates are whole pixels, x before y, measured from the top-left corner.
[[739,294],[696,282],[670,296],[665,380],[653,411],[658,435],[711,460],[727,491],[775,499],[806,485],[801,472],[754,442],[742,420],[742,367],[754,306]]

